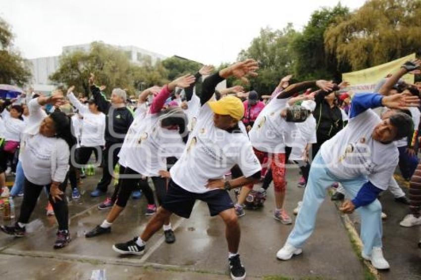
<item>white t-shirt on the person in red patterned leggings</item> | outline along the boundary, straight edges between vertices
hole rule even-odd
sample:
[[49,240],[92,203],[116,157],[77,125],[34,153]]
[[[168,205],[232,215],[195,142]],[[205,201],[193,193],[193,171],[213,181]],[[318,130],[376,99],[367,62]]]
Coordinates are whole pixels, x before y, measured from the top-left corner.
[[273,98],[257,117],[253,128],[249,132],[253,147],[263,152],[285,153],[285,142],[292,131],[296,130],[295,123],[288,123],[281,117],[281,110],[288,106],[288,98]]

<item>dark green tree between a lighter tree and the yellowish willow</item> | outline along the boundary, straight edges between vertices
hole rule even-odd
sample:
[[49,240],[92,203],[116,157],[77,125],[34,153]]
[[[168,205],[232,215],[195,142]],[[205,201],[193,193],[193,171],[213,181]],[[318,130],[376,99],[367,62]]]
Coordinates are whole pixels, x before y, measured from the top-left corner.
[[349,15],[349,9],[338,3],[322,8],[311,15],[303,32],[291,43],[294,54],[294,77],[300,80],[333,79],[339,81],[350,66],[338,63],[334,52],[325,51],[324,33],[330,24]]

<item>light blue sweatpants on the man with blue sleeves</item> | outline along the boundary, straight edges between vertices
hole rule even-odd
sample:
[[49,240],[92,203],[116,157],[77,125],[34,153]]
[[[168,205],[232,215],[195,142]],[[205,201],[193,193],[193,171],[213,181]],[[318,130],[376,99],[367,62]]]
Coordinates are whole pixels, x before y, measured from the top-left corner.
[[[352,180],[337,178],[329,173],[320,152],[317,153],[310,169],[303,204],[295,221],[294,229],[288,236],[287,243],[300,248],[310,237],[315,228],[317,210],[326,196],[326,188],[333,182],[340,182],[347,193],[355,197],[360,188],[367,182],[367,178],[362,177]],[[371,204],[358,208],[357,211],[361,215],[360,235],[364,244],[364,253],[369,256],[373,247],[382,246],[381,204],[376,199]]]

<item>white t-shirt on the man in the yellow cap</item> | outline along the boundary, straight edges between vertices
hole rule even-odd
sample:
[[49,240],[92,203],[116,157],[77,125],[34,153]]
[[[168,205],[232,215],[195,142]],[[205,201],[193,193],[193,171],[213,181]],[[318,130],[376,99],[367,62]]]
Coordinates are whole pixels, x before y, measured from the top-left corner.
[[211,108],[203,105],[183,154],[170,169],[171,179],[190,192],[204,193],[211,191],[209,179],[224,178],[236,164],[245,177],[261,170],[247,135],[216,128]]

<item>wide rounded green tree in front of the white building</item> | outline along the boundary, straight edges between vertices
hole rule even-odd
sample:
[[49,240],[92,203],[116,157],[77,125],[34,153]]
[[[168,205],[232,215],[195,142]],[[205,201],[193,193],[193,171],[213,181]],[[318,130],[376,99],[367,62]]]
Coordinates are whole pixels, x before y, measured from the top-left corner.
[[65,53],[60,57],[60,65],[50,80],[56,84],[74,85],[76,91],[89,93],[88,78],[95,73],[96,83],[106,85],[105,93],[114,88],[127,89],[129,92],[140,90],[142,85],[161,85],[166,82],[167,71],[158,64],[152,66],[145,60],[142,66],[130,62],[124,51],[94,42],[91,50]]

